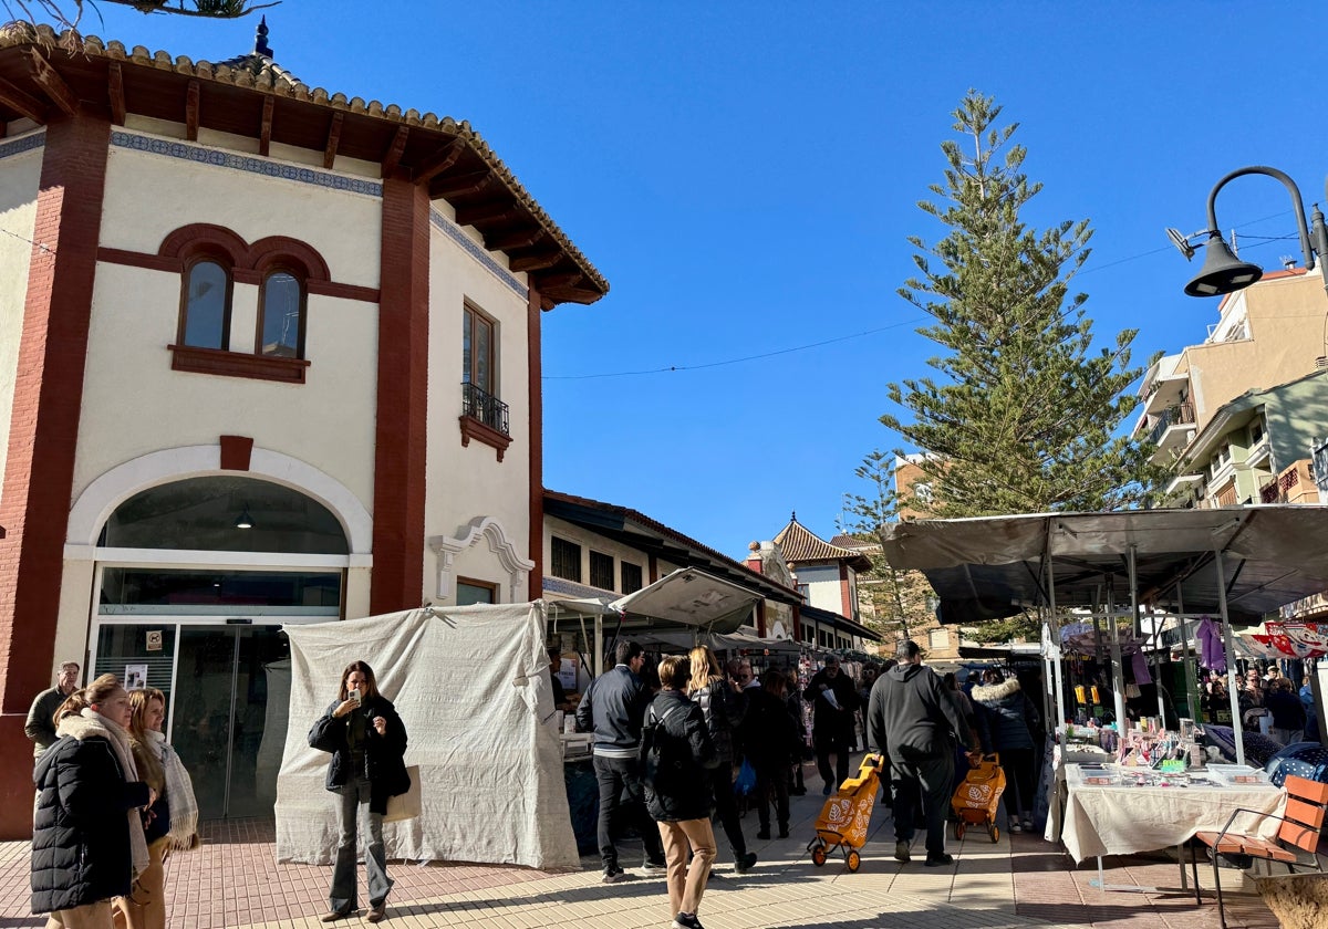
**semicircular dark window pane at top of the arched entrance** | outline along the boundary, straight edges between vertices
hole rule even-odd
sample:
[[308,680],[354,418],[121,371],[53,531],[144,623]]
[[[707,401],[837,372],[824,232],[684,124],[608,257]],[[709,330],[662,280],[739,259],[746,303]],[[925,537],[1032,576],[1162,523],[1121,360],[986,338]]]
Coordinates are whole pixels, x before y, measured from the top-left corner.
[[[244,522],[250,528],[236,526]],[[305,555],[349,552],[340,520],[317,500],[282,484],[234,476],[189,478],[134,494],[106,520],[98,544]]]

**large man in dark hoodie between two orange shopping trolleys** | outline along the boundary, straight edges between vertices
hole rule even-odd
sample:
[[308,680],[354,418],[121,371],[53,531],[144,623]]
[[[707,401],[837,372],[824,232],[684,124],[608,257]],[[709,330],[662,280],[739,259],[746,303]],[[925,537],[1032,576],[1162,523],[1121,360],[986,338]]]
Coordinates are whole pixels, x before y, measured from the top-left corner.
[[947,865],[946,810],[954,783],[954,739],[981,758],[968,723],[944,685],[922,666],[912,640],[899,646],[899,664],[876,679],[867,706],[867,745],[888,755],[895,794],[895,857],[908,860],[914,837],[914,810],[922,795],[927,816],[927,867]]

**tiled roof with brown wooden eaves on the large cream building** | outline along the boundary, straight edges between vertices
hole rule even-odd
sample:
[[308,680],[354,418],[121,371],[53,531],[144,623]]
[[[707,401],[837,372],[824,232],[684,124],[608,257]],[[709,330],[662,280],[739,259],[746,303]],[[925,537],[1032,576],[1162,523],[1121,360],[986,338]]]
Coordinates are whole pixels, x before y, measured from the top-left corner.
[[189,141],[199,129],[256,138],[263,157],[274,142],[313,150],[327,169],[337,157],[377,163],[384,178],[409,178],[425,184],[430,199],[448,200],[459,226],[473,226],[485,248],[505,252],[511,271],[530,275],[543,309],[590,304],[608,292],[608,281],[469,122],[309,88],[258,50],[214,64],[57,35],[48,25],[0,28],[0,123],[45,125],[82,110],[118,126],[127,114],[183,123]]

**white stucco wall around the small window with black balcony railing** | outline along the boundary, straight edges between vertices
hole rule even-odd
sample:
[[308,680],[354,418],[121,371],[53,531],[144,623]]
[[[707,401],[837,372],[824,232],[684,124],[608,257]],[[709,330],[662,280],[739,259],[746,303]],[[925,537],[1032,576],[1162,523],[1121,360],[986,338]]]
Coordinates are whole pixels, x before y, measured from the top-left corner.
[[[497,324],[494,394],[507,403],[511,435],[502,462],[483,442],[461,445],[461,334],[467,301]],[[429,242],[429,358],[426,536],[456,536],[471,519],[493,516],[517,552],[530,557],[526,297],[436,224]],[[507,571],[486,545],[458,553],[456,568],[457,576],[507,588]],[[426,551],[425,577],[437,571],[437,556]],[[530,591],[529,579],[523,591],[527,600],[539,596]]]

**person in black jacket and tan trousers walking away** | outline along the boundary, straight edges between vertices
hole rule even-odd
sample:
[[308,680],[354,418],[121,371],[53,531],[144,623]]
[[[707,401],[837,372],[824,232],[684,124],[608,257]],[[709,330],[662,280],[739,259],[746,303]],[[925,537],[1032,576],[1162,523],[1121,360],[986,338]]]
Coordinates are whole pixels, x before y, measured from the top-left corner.
[[[659,823],[664,845],[669,913],[673,929],[704,929],[696,917],[705,881],[714,864],[714,790],[710,770],[720,763],[705,714],[681,687],[687,686],[688,660],[668,656],[660,662],[660,693],[645,711],[655,726],[659,763],[643,771],[645,808]],[[687,849],[692,848],[692,867]]]

